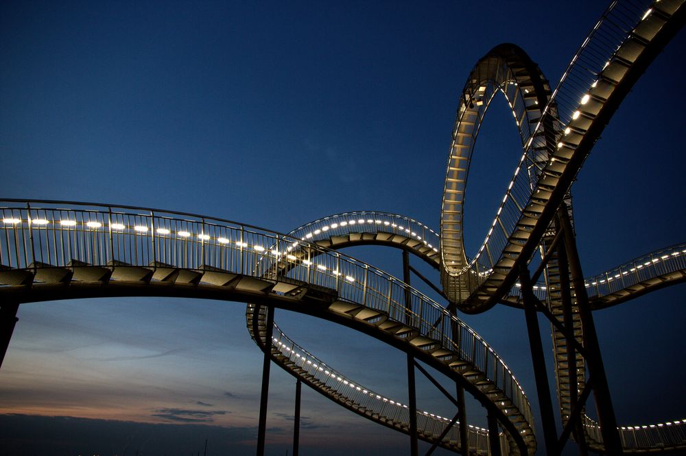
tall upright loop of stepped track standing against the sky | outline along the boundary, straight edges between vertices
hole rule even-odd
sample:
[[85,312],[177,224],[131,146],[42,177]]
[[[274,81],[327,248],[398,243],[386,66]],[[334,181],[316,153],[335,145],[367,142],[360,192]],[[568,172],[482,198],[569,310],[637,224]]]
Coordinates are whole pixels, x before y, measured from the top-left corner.
[[[453,127],[440,225],[441,282],[450,301],[458,303],[468,299],[492,272],[492,268],[477,261],[480,256],[484,254],[490,259],[490,264],[494,264],[501,251],[494,250],[492,245],[484,242],[475,258],[469,261],[464,251],[463,236],[464,201],[471,155],[488,106],[499,92],[504,94],[510,106],[522,147],[532,138],[550,97],[550,88],[539,67],[515,45],[505,44],[491,49],[467,77]],[[539,131],[539,134],[545,135],[545,132]],[[515,173],[517,176],[520,170],[524,170],[519,183],[525,181],[523,185],[530,186],[535,182],[536,170],[546,161],[545,148],[532,149],[531,153],[523,155]],[[503,203],[509,198],[512,186],[510,184],[507,189]],[[502,205],[488,231],[488,238],[494,230],[501,229],[501,210]]]

